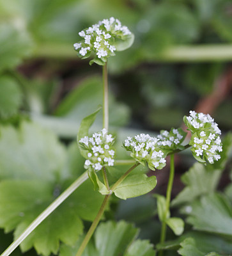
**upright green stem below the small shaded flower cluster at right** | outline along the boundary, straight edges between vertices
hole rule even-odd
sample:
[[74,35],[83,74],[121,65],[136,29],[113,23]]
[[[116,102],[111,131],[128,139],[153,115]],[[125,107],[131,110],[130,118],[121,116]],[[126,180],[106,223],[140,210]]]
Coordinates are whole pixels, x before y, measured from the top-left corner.
[[[160,234],[160,243],[164,243],[166,239],[166,218],[167,212],[169,212],[170,202],[171,202],[171,190],[173,188],[173,179],[174,179],[174,154],[170,155],[170,173],[169,180],[167,184],[167,193],[166,193],[166,207],[164,212],[164,220],[162,221],[161,234]],[[163,251],[160,251],[159,256],[163,255]]]

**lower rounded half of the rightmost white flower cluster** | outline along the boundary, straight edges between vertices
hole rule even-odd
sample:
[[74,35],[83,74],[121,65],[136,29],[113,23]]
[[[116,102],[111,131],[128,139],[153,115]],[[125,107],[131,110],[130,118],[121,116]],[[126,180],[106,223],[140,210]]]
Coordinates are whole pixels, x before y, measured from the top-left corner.
[[206,159],[210,164],[220,159],[219,152],[222,152],[222,143],[217,134],[210,131],[197,132],[192,136],[189,145],[192,145],[191,150],[197,157]]

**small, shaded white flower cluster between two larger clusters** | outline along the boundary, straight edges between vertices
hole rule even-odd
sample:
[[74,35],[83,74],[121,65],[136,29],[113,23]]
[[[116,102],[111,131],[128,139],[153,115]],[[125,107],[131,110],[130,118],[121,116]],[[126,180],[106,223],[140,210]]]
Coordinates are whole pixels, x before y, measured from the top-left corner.
[[182,141],[186,136],[186,132],[184,132],[181,128],[174,129],[172,128],[171,131],[161,131],[160,134],[157,136],[160,140],[158,141],[158,145],[162,148],[166,149],[173,149],[175,150],[180,146]]

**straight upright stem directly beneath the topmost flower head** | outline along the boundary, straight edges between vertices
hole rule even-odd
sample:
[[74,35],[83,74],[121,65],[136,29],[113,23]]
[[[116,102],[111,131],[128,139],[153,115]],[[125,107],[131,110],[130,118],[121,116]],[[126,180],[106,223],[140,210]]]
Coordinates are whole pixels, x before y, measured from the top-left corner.
[[108,78],[107,78],[107,63],[102,69],[103,79],[103,128],[109,129],[109,96],[108,96]]

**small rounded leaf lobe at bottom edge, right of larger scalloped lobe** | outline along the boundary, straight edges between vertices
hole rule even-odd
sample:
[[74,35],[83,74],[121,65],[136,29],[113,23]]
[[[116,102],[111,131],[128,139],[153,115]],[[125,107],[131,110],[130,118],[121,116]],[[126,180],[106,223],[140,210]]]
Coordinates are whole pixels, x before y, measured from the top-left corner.
[[148,240],[138,239],[129,246],[124,256],[155,256],[155,251]]

